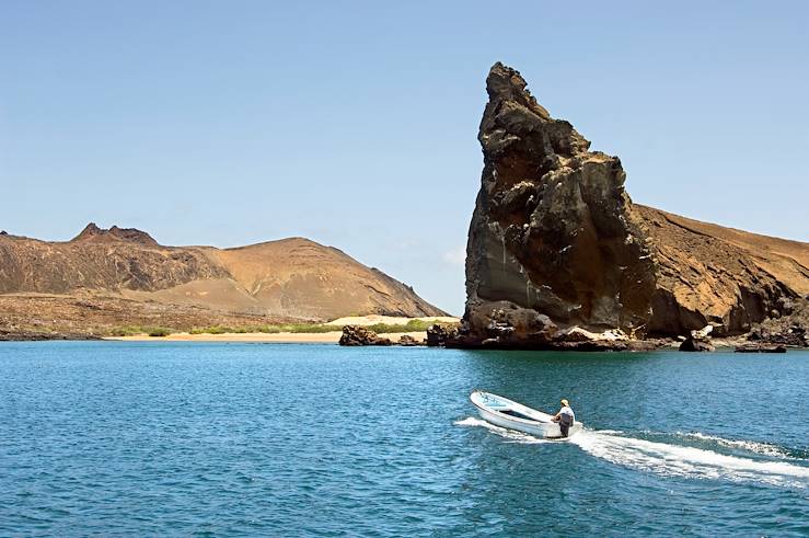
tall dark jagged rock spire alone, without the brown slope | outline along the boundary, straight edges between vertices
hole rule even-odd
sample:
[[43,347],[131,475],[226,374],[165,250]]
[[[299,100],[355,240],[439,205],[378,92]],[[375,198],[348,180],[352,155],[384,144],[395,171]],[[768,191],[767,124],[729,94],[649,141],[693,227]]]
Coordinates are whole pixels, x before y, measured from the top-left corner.
[[463,337],[529,344],[548,341],[557,325],[644,325],[655,266],[631,215],[621,161],[589,151],[516,70],[496,64],[486,89]]

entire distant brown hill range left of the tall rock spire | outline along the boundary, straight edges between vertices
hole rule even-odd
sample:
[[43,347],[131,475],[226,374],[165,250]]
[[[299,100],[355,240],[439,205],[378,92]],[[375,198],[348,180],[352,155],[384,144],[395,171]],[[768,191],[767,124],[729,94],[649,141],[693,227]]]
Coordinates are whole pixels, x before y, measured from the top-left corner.
[[235,249],[165,247],[139,230],[94,224],[66,242],[0,234],[0,294],[104,296],[130,308],[174,305],[186,321],[194,312],[307,320],[444,314],[381,271],[307,239]]

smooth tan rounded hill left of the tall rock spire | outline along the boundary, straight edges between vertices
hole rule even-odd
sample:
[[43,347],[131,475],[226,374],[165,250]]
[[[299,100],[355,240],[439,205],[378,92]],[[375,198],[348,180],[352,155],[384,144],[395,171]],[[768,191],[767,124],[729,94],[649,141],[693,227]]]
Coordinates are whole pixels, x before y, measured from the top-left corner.
[[[195,279],[150,294],[231,311],[331,320],[344,316],[443,316],[413,288],[339,249],[303,238],[235,249],[200,248],[224,278]],[[130,297],[141,294],[128,293]]]

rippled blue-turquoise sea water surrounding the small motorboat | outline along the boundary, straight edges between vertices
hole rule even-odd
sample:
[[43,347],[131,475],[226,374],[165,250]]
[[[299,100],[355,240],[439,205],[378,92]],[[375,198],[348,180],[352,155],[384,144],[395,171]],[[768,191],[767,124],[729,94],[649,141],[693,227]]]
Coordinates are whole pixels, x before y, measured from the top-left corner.
[[4,343],[0,535],[807,536],[808,401],[798,352]]

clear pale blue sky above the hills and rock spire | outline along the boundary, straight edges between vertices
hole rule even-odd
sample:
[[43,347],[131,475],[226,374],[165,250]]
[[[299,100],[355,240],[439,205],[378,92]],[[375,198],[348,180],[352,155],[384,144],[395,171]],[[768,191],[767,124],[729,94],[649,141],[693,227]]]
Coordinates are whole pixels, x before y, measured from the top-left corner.
[[633,201],[809,241],[809,2],[0,1],[0,229],[302,236],[460,314],[495,61]]

